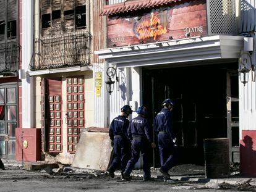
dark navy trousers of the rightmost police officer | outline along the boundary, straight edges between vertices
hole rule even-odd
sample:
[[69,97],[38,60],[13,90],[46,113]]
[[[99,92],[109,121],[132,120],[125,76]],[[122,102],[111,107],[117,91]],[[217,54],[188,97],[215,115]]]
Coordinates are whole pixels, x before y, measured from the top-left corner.
[[166,133],[158,134],[161,169],[168,172],[177,162],[177,146]]

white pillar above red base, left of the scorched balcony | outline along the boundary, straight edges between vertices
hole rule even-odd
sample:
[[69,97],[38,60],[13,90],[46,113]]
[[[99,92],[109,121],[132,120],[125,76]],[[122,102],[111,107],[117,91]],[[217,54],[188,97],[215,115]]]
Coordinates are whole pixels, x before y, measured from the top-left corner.
[[[22,69],[29,71],[33,54],[33,6],[34,0],[22,1]],[[33,77],[22,80],[22,128],[34,126]]]

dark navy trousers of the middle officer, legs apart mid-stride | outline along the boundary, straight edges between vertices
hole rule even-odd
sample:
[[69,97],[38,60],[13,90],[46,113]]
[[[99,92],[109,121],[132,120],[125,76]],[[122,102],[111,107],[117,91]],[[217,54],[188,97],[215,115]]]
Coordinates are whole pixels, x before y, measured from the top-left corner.
[[140,152],[142,154],[143,159],[143,172],[144,177],[150,178],[150,158],[149,158],[149,149],[150,144],[145,139],[139,139],[139,140],[132,140],[132,159],[130,159],[126,166],[126,172],[130,173],[132,172],[132,169],[134,169],[134,165],[140,158]]

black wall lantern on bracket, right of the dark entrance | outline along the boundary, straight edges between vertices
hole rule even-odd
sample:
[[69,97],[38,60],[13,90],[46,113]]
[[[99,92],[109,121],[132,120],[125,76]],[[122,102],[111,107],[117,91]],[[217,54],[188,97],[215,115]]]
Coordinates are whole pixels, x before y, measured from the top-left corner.
[[[248,62],[249,59],[249,62]],[[251,54],[248,52],[242,52],[241,57],[239,59],[239,63],[241,64],[241,69],[238,70],[240,81],[245,84],[249,81],[249,73],[252,70],[252,81],[254,80],[254,65],[252,64]]]

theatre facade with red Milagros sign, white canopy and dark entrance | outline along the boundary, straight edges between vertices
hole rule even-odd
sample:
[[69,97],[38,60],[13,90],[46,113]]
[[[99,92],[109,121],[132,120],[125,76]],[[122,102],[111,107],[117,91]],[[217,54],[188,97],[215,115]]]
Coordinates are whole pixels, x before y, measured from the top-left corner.
[[161,102],[171,98],[181,162],[203,163],[205,138],[229,138],[229,160],[243,159],[242,132],[255,127],[253,115],[245,114],[254,108],[244,108],[247,99],[255,100],[249,98],[255,94],[254,70],[248,67],[249,81],[242,80],[244,62],[255,61],[244,48],[243,33],[254,30],[245,19],[254,17],[249,4],[109,1],[101,13],[107,20],[107,48],[95,52],[116,70],[111,78],[118,77],[109,95],[108,122],[130,104],[134,110],[145,105],[153,124]]

